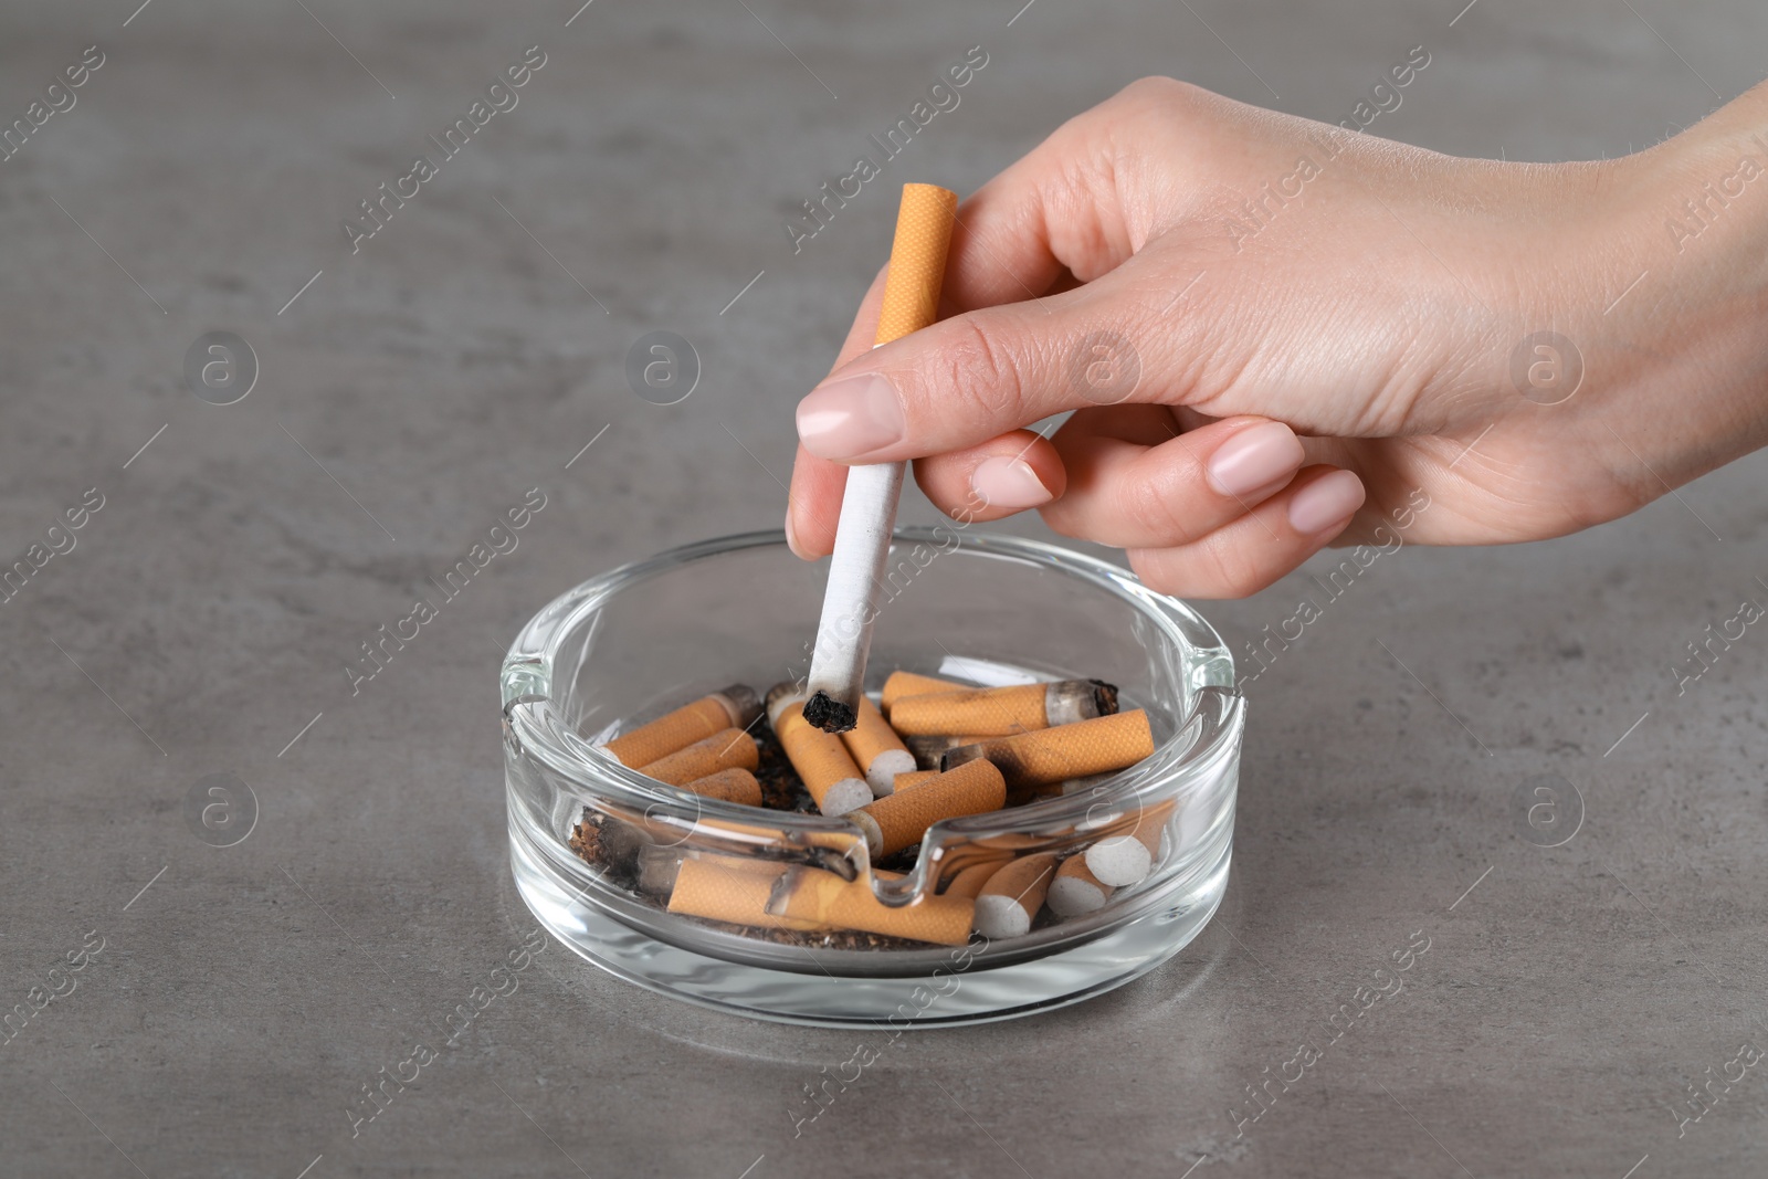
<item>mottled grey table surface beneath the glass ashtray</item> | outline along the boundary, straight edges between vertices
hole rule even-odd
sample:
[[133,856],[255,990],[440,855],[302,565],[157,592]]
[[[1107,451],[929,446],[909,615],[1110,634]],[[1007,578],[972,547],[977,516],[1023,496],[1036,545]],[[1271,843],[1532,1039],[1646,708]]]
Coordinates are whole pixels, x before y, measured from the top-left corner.
[[[437,1043],[534,928],[504,647],[583,576],[778,527],[792,405],[898,180],[972,189],[1156,72],[1337,122],[1418,44],[1372,133],[1618,156],[1757,81],[1759,2],[136,4],[0,14],[7,124],[103,53],[0,163],[0,544],[44,562],[0,608],[0,1174],[1763,1174],[1768,1078],[1733,1062],[1764,1036],[1768,640],[1674,672],[1768,601],[1763,458],[1572,539],[1407,548],[1331,601],[1248,688],[1220,916],[1116,993],[907,1036],[799,1126],[868,1034],[557,944]],[[343,219],[529,46],[520,106],[352,253]],[[794,253],[799,202],[971,46],[962,106]],[[186,384],[210,331],[256,355],[233,405]],[[628,387],[651,331],[702,361],[679,405]],[[352,695],[359,643],[536,486],[520,548]],[[1241,649],[1308,590],[1208,613]],[[187,822],[210,774],[256,799],[232,847]],[[1547,776],[1581,817],[1551,848]],[[1414,935],[1406,990],[1254,1107]],[[414,1043],[437,1062],[352,1135]]]

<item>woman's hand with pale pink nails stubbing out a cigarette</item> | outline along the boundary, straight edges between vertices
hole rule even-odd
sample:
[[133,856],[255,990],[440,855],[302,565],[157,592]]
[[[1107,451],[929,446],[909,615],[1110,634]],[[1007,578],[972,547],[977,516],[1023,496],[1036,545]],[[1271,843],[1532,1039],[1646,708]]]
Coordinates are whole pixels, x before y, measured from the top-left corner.
[[847,463],[907,458],[946,513],[1036,507],[1195,597],[1335,539],[1623,516],[1768,442],[1756,127],[1763,87],[1639,156],[1501,164],[1139,81],[958,209],[949,318],[870,350],[873,283],[797,408],[792,546],[831,551]]

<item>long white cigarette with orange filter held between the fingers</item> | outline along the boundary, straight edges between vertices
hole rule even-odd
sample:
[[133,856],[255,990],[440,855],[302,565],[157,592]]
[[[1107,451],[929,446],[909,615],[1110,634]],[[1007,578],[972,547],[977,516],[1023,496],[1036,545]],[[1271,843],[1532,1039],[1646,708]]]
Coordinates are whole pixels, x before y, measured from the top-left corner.
[[[948,189],[932,184],[902,187],[873,346],[902,339],[939,318],[956,209],[958,194]],[[907,463],[872,463],[847,472],[834,559],[810,658],[810,700],[804,704],[804,719],[824,732],[847,732],[857,721],[879,587],[884,583],[907,468]]]

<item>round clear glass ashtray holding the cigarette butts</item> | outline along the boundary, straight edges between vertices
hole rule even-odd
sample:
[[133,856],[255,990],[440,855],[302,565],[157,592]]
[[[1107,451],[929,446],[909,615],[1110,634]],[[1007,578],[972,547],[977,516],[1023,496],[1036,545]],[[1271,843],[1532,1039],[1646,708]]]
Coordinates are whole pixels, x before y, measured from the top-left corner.
[[[663,785],[599,746],[732,682],[757,693],[801,682],[827,578],[826,562],[799,560],[780,532],[670,550],[562,594],[504,659],[511,866],[523,901],[560,942],[702,1006],[902,1029],[1078,1002],[1151,970],[1202,930],[1227,887],[1245,728],[1234,661],[1215,629],[1121,567],[1038,541],[903,529],[889,569],[872,693],[895,670],[981,686],[1109,681],[1121,709],[1146,711],[1153,757],[1068,794],[941,820],[889,864],[872,863],[847,818]],[[1041,854],[1066,863],[1144,820],[1158,834],[1146,840],[1139,880],[1098,889],[1091,912],[1043,909],[1024,933],[972,933],[962,944],[801,919],[709,921],[670,912],[649,879],[665,877],[667,889],[684,863],[744,861],[769,877],[815,873],[868,889],[857,898],[866,907],[934,912],[967,868]],[[617,829],[636,875],[573,848],[585,824]]]

